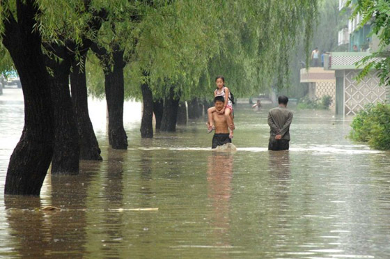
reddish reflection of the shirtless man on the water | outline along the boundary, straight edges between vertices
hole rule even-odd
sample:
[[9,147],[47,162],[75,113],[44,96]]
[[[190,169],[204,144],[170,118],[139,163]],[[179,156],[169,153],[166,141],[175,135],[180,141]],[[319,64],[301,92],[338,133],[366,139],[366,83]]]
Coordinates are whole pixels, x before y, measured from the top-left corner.
[[[212,152],[208,157],[208,197],[212,200],[210,223],[213,228],[215,246],[231,246],[230,200],[233,178],[233,155],[224,152]],[[221,257],[227,258],[227,257]]]

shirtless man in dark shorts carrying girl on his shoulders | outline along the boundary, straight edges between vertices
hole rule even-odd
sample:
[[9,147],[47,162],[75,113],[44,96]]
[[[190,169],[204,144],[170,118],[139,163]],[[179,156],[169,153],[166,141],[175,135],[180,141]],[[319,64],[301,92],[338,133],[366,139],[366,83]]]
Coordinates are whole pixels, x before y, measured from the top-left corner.
[[[214,97],[214,106],[217,111],[221,111],[225,106],[225,98],[222,96]],[[214,120],[215,133],[212,137],[212,147],[217,148],[217,146],[222,146],[226,143],[231,143],[231,138],[229,138],[229,127],[228,122],[224,114],[219,112],[212,113],[212,120]],[[208,130],[211,130],[212,127],[209,123]]]

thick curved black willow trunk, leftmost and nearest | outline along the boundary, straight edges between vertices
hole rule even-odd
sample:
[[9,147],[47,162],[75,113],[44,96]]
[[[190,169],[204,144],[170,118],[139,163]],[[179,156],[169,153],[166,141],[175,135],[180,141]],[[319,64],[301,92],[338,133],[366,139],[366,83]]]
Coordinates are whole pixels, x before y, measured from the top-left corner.
[[39,32],[33,29],[34,1],[17,2],[17,20],[3,13],[3,45],[10,52],[22,82],[24,127],[10,157],[5,194],[39,195],[53,155],[54,118]]

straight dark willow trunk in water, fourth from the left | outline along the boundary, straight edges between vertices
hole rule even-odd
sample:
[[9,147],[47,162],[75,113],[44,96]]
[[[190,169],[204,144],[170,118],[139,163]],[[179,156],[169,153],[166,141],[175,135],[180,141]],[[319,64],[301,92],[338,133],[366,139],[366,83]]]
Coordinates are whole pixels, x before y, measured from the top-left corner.
[[104,90],[109,111],[109,143],[114,149],[127,149],[127,135],[123,127],[125,86],[123,79],[123,52],[114,52],[114,68],[104,73]]

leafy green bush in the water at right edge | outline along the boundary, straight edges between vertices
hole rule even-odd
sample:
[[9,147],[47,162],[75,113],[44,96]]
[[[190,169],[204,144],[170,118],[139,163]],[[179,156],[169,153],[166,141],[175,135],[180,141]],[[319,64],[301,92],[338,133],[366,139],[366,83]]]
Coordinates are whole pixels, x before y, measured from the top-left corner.
[[390,150],[390,104],[370,104],[351,124],[350,139],[368,142],[371,148]]

